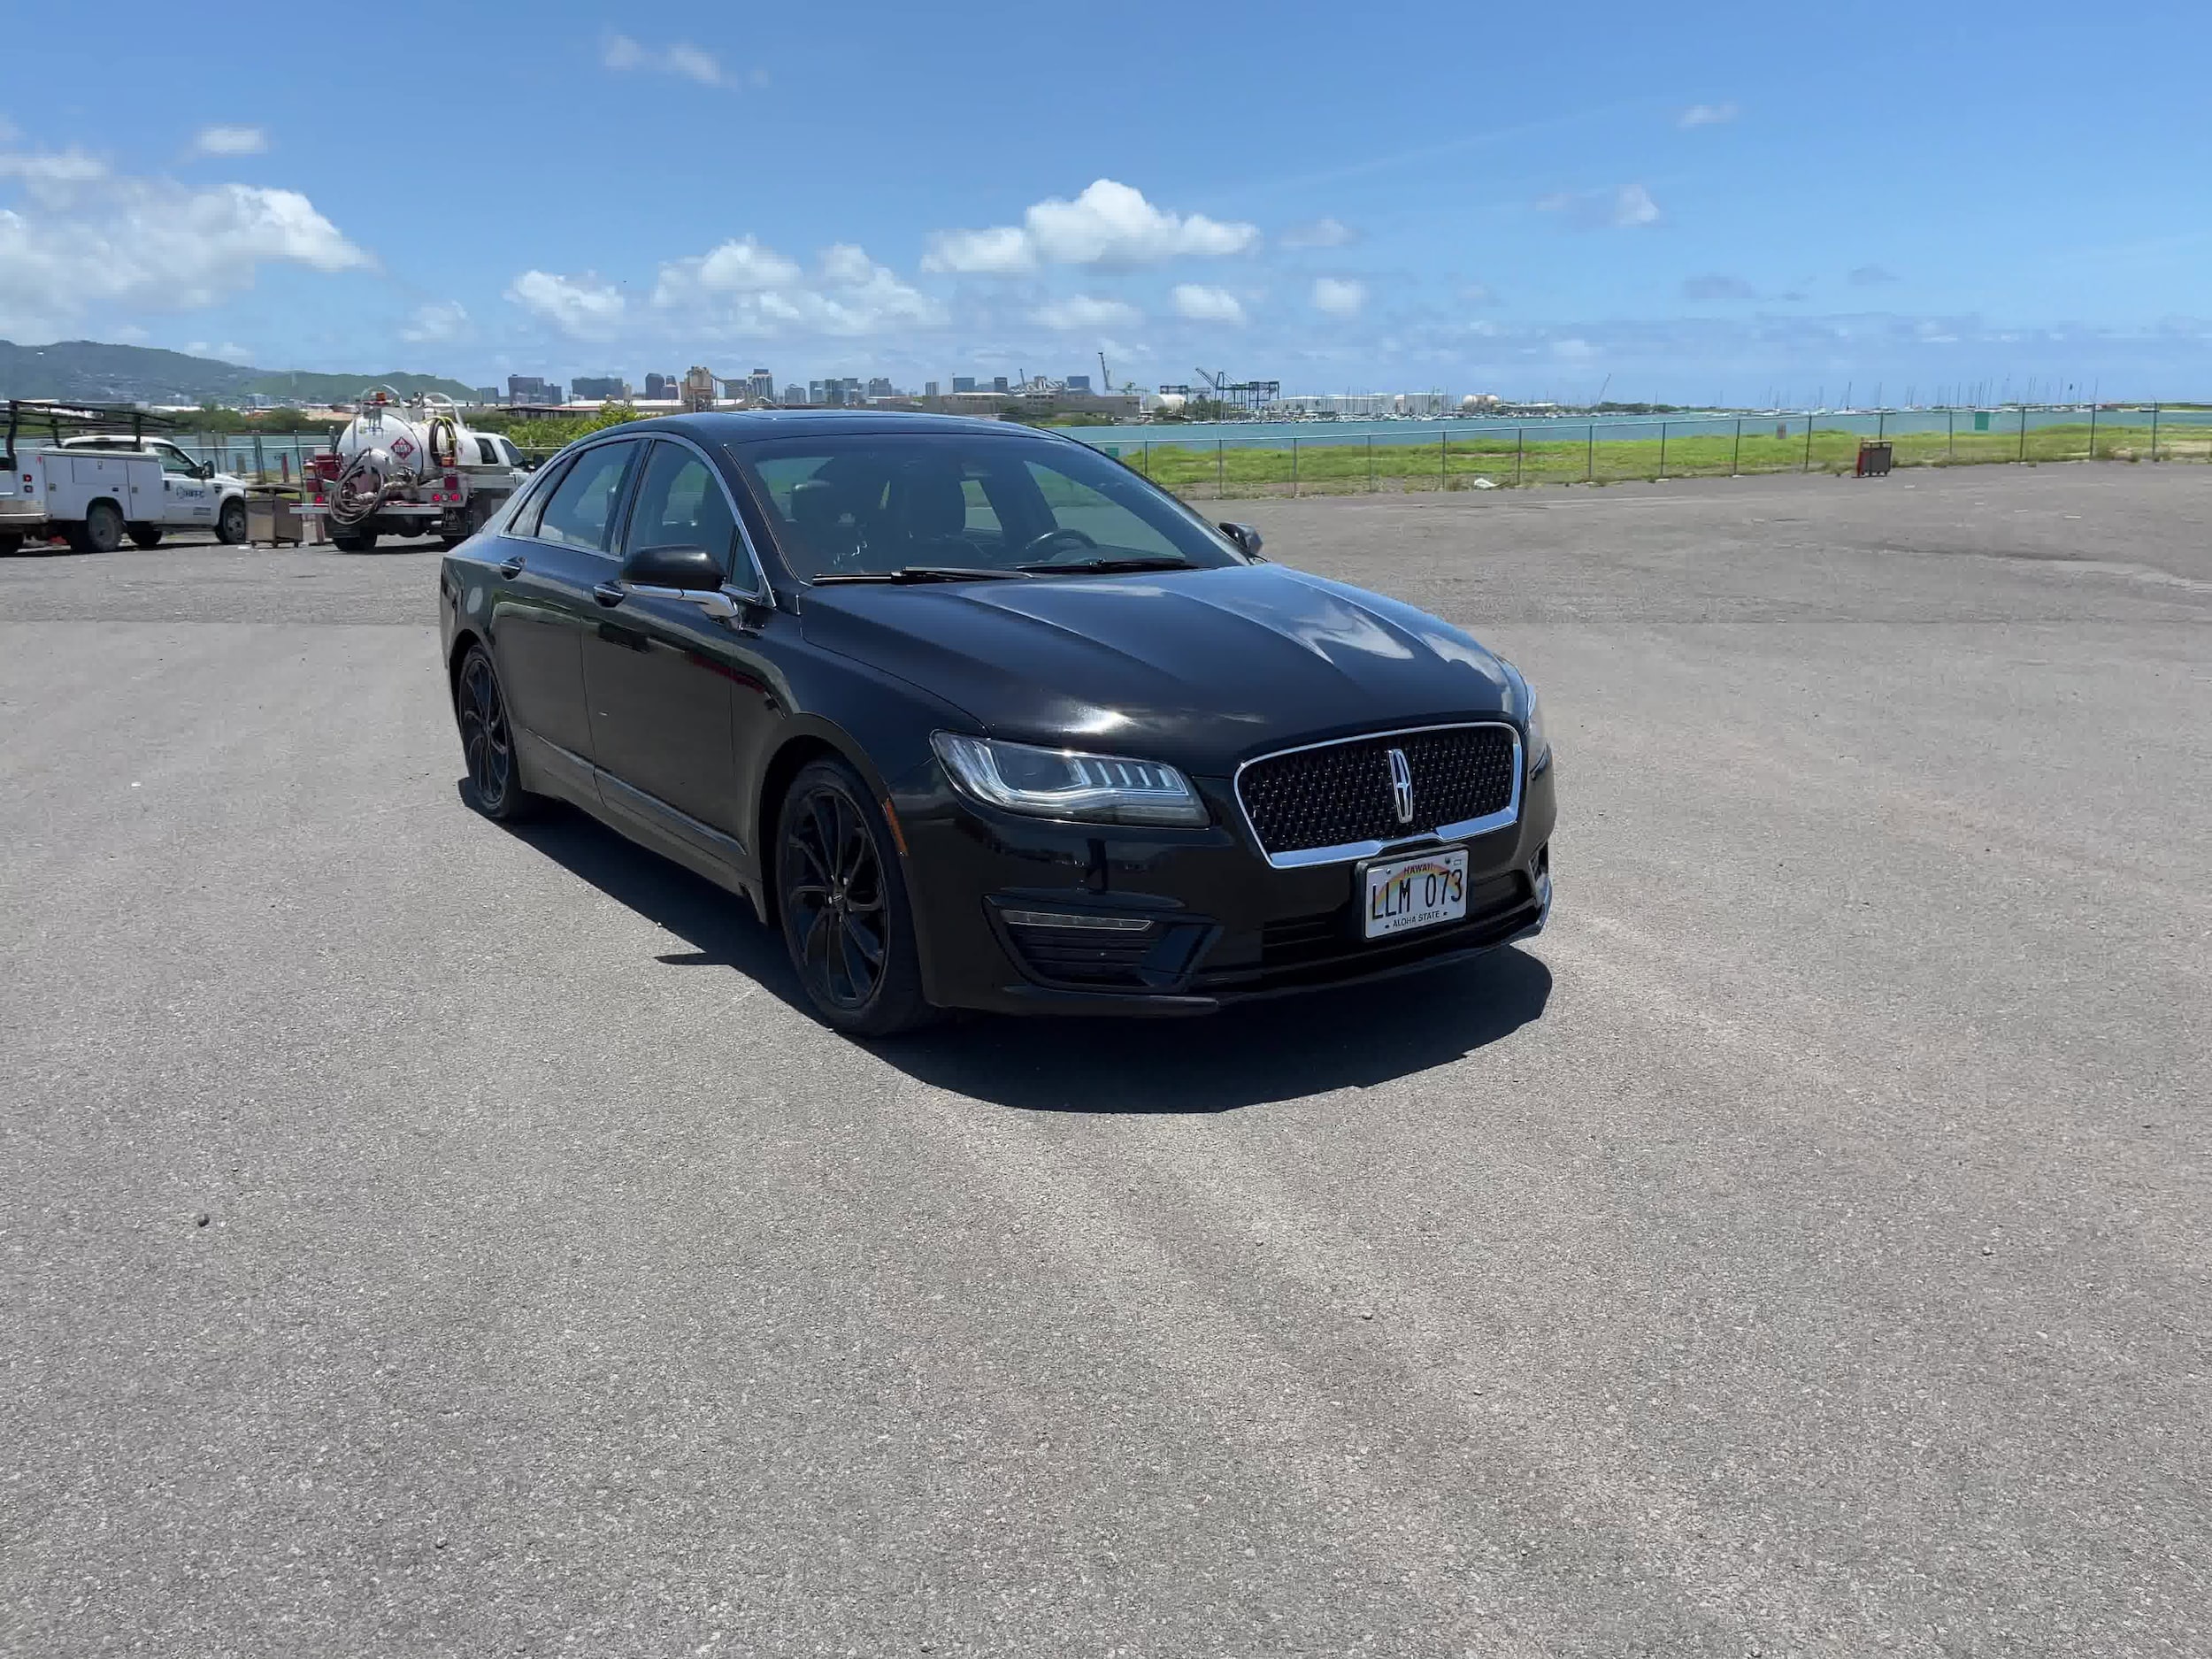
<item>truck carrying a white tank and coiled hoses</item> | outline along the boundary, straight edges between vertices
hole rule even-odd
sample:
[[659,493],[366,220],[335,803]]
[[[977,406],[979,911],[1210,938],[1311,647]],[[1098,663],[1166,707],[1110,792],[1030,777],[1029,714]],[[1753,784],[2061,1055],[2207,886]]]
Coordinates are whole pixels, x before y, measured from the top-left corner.
[[323,518],[341,553],[365,553],[378,535],[438,535],[458,546],[524,478],[520,451],[495,431],[469,431],[451,398],[374,387],[330,453],[310,465],[310,500],[299,511]]

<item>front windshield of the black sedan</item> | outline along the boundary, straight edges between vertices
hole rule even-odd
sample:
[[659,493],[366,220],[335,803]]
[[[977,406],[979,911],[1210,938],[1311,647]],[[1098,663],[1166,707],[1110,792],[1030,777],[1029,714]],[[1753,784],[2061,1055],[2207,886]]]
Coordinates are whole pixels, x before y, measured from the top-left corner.
[[1172,495],[1075,442],[872,431],[730,456],[803,582],[1245,562]]

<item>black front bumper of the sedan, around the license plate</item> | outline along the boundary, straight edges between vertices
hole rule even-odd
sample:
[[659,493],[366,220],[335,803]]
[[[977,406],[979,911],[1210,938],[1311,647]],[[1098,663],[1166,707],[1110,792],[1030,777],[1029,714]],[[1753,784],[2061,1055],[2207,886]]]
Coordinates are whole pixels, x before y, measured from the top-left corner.
[[[949,787],[894,792],[925,993],[998,1013],[1194,1015],[1493,951],[1551,916],[1555,770],[1528,779],[1515,823],[1451,843],[1469,852],[1464,920],[1383,940],[1358,936],[1358,865],[1267,865],[1225,779],[1199,779],[1208,830],[1044,823]],[[1407,849],[1420,845],[1436,843]]]

